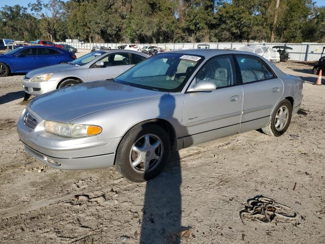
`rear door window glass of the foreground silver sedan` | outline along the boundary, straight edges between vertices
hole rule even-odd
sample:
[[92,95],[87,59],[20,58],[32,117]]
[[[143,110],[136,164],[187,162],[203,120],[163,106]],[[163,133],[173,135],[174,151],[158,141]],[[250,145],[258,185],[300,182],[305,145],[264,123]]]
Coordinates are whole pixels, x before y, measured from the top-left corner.
[[243,83],[275,78],[270,68],[258,57],[236,55],[236,59],[240,68]]

